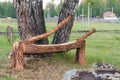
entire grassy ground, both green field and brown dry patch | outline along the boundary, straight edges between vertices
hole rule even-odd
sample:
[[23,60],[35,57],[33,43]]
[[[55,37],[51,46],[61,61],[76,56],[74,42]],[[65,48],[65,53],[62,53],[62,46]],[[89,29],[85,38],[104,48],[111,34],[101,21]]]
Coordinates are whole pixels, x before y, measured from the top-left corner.
[[[14,32],[17,32],[16,22],[0,22],[0,31],[5,31],[6,26],[12,26]],[[47,22],[47,31],[50,31],[56,26],[54,22]],[[120,30],[118,23],[99,23],[91,22],[90,28],[96,30]],[[73,41],[84,33],[78,33],[80,30],[88,30],[86,22],[75,22],[70,35],[70,41]],[[120,32],[96,32],[86,39],[86,66],[80,66],[74,63],[75,50],[65,52],[65,54],[53,54],[51,58],[40,60],[26,61],[27,69],[24,71],[17,71],[9,69],[8,53],[12,49],[12,44],[7,42],[6,36],[0,35],[0,80],[14,80],[14,79],[41,79],[42,80],[60,80],[65,71],[69,69],[86,69],[92,68],[94,62],[105,62],[113,64],[116,68],[120,68]],[[49,37],[51,42],[53,35]],[[15,41],[19,41],[16,38]],[[28,64],[29,63],[29,64]],[[51,74],[54,72],[55,74]],[[33,74],[36,76],[33,76]],[[41,75],[41,76],[38,76]]]

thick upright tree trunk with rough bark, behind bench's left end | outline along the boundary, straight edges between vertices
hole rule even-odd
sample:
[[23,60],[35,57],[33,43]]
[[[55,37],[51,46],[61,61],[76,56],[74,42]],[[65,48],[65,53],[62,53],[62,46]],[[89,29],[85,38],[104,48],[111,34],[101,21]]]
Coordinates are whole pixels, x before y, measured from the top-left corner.
[[[14,7],[22,40],[46,32],[42,0],[14,0]],[[48,44],[48,39],[37,43]]]

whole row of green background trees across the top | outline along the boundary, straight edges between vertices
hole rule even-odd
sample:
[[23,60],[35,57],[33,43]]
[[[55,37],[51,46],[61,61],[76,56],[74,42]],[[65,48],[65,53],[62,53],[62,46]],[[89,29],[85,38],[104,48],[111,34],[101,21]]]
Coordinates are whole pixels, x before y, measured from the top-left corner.
[[[80,16],[82,14],[82,9],[84,9],[84,16],[87,16],[88,2],[90,3],[92,17],[102,17],[102,14],[105,11],[112,11],[112,7],[113,11],[117,14],[117,16],[120,16],[120,0],[107,0],[107,2],[103,0],[85,0],[81,3],[81,5],[77,6],[77,16]],[[59,13],[62,9],[62,5],[63,0],[60,0],[60,3],[58,5],[55,5],[54,3],[48,3],[46,9],[44,10],[44,16],[59,16]],[[0,2],[0,17],[15,18],[16,15],[13,6],[14,4],[12,2]],[[52,6],[53,8],[50,6]]]

